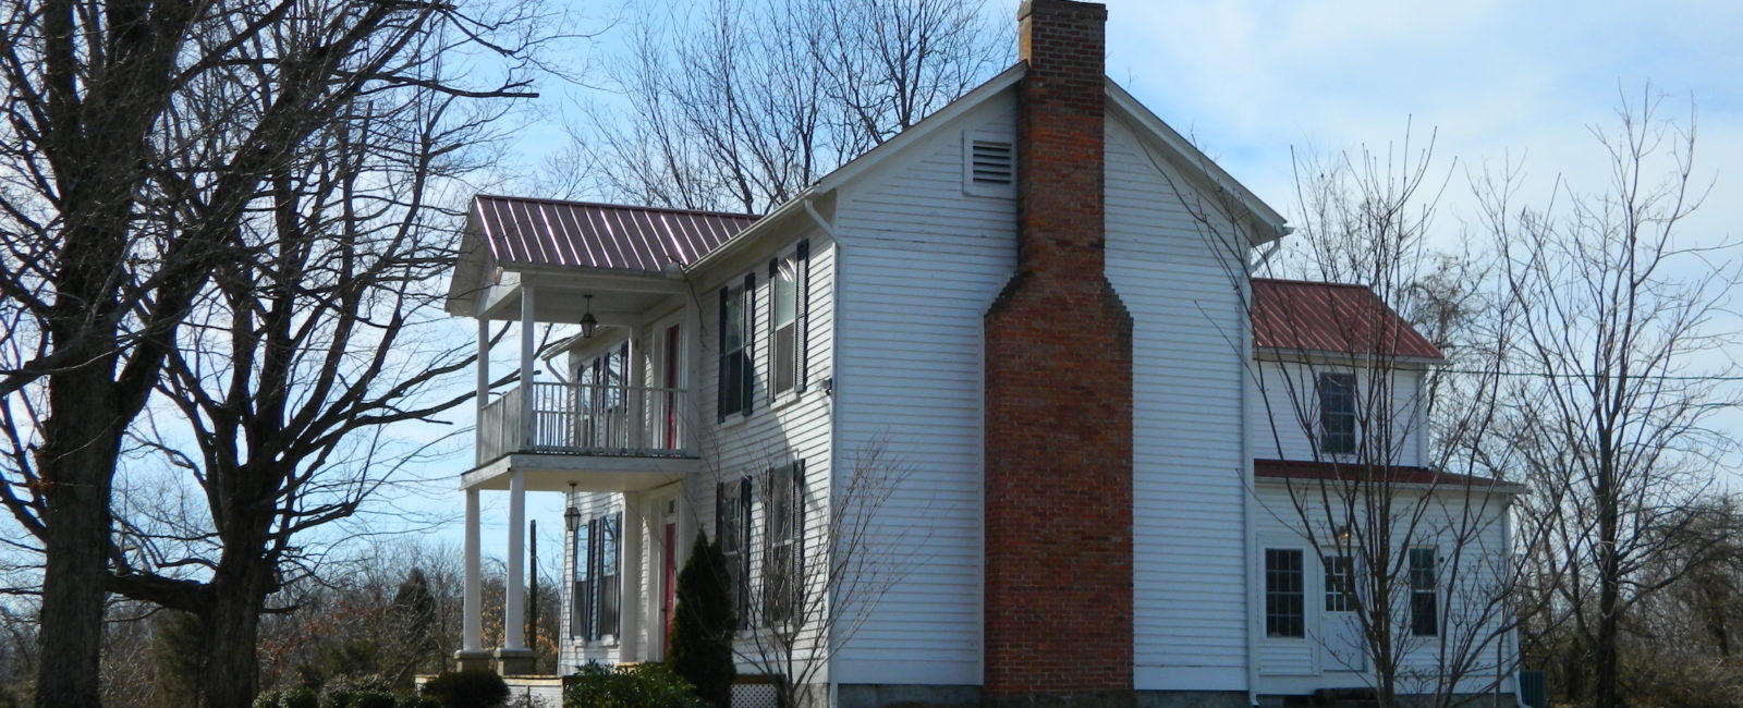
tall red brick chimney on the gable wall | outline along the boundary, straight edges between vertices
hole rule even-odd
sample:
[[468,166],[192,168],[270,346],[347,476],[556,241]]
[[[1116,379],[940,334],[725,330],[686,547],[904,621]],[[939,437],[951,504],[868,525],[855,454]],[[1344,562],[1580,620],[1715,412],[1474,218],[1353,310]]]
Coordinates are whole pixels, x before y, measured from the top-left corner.
[[1131,316],[1103,251],[1107,9],[1027,0],[1016,274],[985,317],[990,706],[1129,705]]

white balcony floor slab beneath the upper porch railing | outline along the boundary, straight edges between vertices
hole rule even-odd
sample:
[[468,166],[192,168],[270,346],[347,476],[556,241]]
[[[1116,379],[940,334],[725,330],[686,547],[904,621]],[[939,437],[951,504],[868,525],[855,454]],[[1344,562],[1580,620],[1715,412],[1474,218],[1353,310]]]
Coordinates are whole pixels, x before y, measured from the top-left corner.
[[702,471],[695,457],[509,453],[460,474],[462,490],[507,490],[509,473],[526,474],[528,492],[636,492]]

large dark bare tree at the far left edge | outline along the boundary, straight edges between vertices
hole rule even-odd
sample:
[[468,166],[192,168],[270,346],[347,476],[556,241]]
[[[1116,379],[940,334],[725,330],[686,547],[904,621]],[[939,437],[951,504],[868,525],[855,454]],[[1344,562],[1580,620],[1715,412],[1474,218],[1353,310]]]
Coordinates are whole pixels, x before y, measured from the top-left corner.
[[214,270],[260,253],[244,223],[382,91],[518,91],[514,70],[464,87],[434,63],[512,54],[514,31],[422,2],[0,10],[0,502],[45,556],[38,706],[99,703],[122,436]]

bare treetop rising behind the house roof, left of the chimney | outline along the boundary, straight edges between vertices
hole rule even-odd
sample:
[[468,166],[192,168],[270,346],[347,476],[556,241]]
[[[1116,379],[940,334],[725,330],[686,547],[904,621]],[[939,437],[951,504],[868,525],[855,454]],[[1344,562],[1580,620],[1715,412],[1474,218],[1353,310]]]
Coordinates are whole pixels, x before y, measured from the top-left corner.
[[563,192],[765,211],[1002,68],[985,0],[654,3],[554,162]]

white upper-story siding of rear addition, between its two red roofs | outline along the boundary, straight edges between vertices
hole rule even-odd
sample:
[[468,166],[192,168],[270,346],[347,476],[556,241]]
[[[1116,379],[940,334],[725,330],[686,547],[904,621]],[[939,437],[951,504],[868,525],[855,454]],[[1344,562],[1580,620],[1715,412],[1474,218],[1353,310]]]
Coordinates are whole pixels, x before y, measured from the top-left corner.
[[[1253,405],[1248,419],[1253,431],[1253,455],[1279,460],[1314,460],[1312,436],[1319,431],[1319,398],[1314,389],[1318,373],[1354,373],[1367,410],[1367,396],[1373,391],[1375,375],[1393,380],[1393,446],[1389,464],[1422,464],[1422,419],[1426,401],[1421,401],[1422,370],[1394,368],[1391,371],[1351,370],[1337,364],[1302,364],[1293,361],[1253,363]],[[1365,424],[1367,415],[1358,412]],[[1360,432],[1367,436],[1368,432]],[[1321,459],[1325,459],[1321,455]]]

